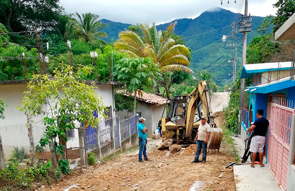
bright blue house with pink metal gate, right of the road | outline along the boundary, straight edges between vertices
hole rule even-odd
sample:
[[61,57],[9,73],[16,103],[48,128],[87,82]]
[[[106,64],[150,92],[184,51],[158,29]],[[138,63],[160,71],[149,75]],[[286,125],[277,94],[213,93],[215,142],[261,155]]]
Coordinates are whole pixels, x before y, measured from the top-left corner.
[[251,126],[251,122],[256,120],[257,110],[263,109],[264,117],[270,122],[266,139],[266,162],[283,191],[287,190],[287,180],[292,188],[288,170],[290,174],[290,169],[295,167],[292,157],[295,152],[292,143],[292,117],[295,114],[293,64],[246,64],[240,75],[240,78],[252,79],[252,85],[245,88],[245,92],[249,93],[249,106],[242,111],[241,139],[244,140],[248,136],[246,130]]

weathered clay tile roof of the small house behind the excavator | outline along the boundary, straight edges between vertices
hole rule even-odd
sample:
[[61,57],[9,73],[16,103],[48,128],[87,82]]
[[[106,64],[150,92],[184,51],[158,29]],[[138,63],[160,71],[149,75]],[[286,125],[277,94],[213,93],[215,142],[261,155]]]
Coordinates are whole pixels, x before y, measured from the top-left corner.
[[[118,90],[117,93],[123,93],[125,96],[134,96],[134,93],[132,93],[132,95],[130,95],[130,94],[127,94],[125,90]],[[164,105],[167,102],[167,98],[165,98],[165,97],[146,93],[144,91],[142,91],[142,93],[143,93],[142,97],[137,94],[136,99],[138,101],[143,101],[143,102],[150,103],[150,104],[153,104],[156,106]]]

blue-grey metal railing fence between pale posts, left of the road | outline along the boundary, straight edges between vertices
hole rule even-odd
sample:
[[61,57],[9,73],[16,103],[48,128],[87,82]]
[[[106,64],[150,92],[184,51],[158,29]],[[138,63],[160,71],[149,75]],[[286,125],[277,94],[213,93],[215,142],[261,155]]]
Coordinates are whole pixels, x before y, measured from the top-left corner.
[[118,151],[121,148],[121,142],[137,133],[137,124],[139,115],[133,116],[123,121],[119,117],[100,121],[97,128],[88,127],[86,129],[87,152],[104,145],[114,142],[114,149]]

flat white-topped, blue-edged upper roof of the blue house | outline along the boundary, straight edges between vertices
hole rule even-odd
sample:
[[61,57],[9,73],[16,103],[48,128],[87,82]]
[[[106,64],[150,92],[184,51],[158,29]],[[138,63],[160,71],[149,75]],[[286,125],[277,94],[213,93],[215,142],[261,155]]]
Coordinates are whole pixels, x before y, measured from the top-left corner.
[[240,78],[252,78],[255,73],[266,71],[289,70],[291,66],[292,62],[246,64],[243,65]]

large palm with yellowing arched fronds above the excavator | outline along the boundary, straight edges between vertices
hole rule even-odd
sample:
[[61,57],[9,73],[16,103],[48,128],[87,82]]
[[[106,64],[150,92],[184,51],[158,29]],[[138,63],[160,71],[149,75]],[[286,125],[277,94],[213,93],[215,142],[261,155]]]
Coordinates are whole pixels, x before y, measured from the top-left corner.
[[[162,72],[167,71],[186,71],[192,72],[188,68],[190,64],[188,57],[190,51],[184,45],[176,44],[171,37],[174,33],[177,22],[171,24],[166,32],[157,31],[155,24],[151,27],[140,24],[143,31],[143,40],[139,35],[132,31],[119,33],[119,39],[114,46],[128,53],[131,57],[150,57],[158,65]],[[163,78],[164,79],[164,78]],[[167,81],[158,81],[165,88],[166,95],[170,98],[170,86]]]

